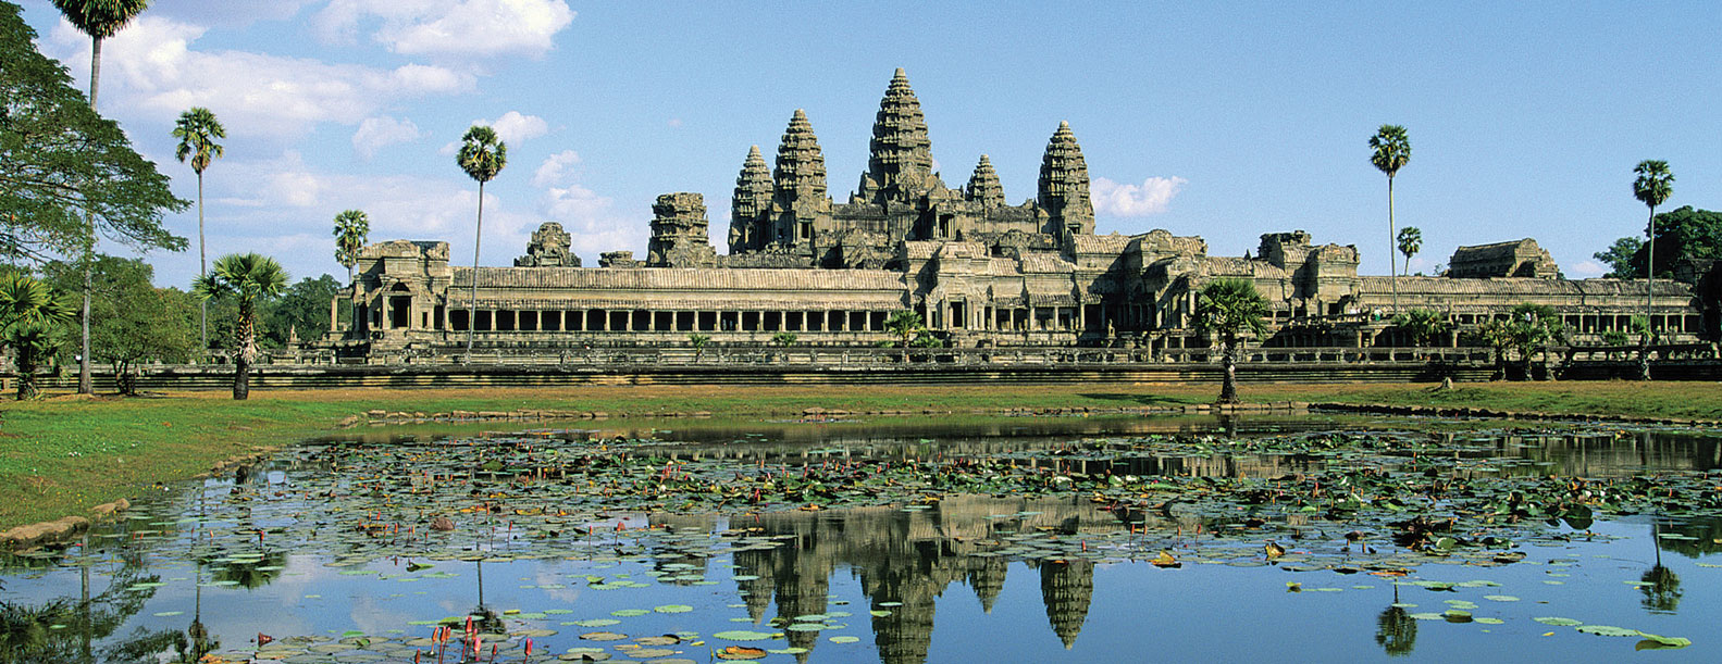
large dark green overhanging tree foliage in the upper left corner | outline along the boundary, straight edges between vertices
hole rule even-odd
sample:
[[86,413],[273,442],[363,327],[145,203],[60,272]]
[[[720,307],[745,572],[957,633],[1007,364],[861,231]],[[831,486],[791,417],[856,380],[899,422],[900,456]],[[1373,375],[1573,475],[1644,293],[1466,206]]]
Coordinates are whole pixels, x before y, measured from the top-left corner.
[[169,179],[90,108],[34,38],[17,5],[0,2],[0,251],[79,249],[91,241],[84,213],[115,243],[183,249],[186,239],[162,227],[162,213],[191,203],[174,198]]

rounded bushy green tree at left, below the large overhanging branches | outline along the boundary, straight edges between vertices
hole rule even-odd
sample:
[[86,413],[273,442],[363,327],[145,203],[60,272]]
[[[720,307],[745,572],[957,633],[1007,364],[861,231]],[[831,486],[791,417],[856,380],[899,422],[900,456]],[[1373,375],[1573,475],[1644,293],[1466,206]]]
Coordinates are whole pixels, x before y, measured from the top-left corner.
[[[191,358],[198,347],[191,327],[196,315],[186,292],[152,286],[155,268],[139,258],[96,255],[91,274],[91,353],[114,368],[121,394],[138,392],[139,363]],[[43,275],[64,292],[81,282],[83,270],[52,261]]]

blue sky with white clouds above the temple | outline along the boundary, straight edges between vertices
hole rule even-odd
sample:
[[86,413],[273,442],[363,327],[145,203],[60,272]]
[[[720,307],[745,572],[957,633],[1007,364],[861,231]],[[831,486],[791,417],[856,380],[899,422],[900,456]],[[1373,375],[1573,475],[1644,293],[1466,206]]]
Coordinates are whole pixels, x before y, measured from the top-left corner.
[[[90,41],[22,0],[40,48],[88,84]],[[749,144],[770,162],[796,108],[842,201],[866,169],[895,67],[921,100],[945,184],[990,155],[1033,196],[1069,120],[1099,232],[1168,229],[1212,255],[1305,229],[1388,272],[1386,182],[1367,139],[1402,124],[1398,224],[1410,270],[1459,244],[1536,237],[1569,277],[1643,232],[1632,167],[1667,160],[1667,208],[1722,206],[1722,9],[1713,2],[1031,3],[157,0],[103,46],[102,112],[196,193],[169,136],[184,108],[226,124],[205,172],[208,253],[263,251],[294,277],[344,270],[329,229],[444,239],[472,256],[475,184],[453,144],[508,141],[486,186],[482,263],[546,220],[575,251],[644,251],[651,201],[706,196],[718,249]],[[196,275],[196,213],[167,225],[158,284]]]

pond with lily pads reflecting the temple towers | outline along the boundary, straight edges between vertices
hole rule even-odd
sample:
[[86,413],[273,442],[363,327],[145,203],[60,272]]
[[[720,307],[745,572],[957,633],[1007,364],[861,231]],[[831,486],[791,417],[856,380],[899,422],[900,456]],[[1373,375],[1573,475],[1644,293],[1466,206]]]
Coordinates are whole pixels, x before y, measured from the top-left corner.
[[1319,415],[498,427],[307,442],[9,556],[0,661],[1722,652],[1707,432]]

